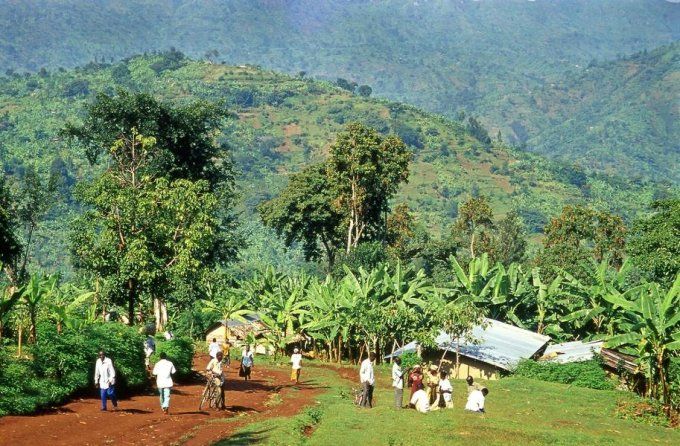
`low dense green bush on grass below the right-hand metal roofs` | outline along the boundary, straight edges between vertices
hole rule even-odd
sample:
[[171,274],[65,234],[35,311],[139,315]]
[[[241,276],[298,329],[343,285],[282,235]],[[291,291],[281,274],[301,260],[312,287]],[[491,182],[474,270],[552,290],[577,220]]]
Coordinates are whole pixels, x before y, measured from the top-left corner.
[[523,360],[517,365],[514,374],[524,378],[571,384],[590,389],[610,390],[614,388],[614,382],[607,377],[598,360],[569,364]]

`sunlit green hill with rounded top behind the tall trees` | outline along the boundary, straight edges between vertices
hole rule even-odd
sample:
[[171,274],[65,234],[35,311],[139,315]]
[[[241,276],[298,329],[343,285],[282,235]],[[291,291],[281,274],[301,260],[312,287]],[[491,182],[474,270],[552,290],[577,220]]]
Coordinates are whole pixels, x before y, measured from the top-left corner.
[[[38,259],[47,266],[67,262],[64,228],[74,212],[72,187],[91,167],[79,149],[59,136],[77,122],[96,92],[117,88],[150,92],[167,101],[217,101],[233,113],[217,138],[231,147],[240,171],[240,206],[251,243],[274,250],[271,234],[251,218],[254,207],[278,193],[288,174],[323,159],[344,125],[361,121],[396,133],[414,152],[411,177],[399,201],[438,232],[452,221],[457,203],[469,195],[490,196],[495,211],[516,209],[532,232],[565,203],[632,217],[657,189],[582,171],[511,149],[482,144],[462,122],[414,107],[351,94],[330,83],[290,77],[253,67],[232,67],[183,59],[178,53],[137,57],[113,66],[0,78],[0,159],[21,178],[34,164],[64,179],[61,203],[39,234]],[[259,245],[258,245],[259,244]]]

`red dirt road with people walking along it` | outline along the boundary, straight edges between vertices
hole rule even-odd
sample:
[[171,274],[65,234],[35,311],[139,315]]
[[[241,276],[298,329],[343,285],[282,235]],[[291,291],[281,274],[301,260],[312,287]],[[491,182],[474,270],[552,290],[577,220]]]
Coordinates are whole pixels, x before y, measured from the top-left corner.
[[[194,368],[202,369],[207,356],[197,357]],[[39,415],[0,418],[0,445],[206,445],[229,437],[243,425],[264,418],[291,416],[313,401],[319,390],[288,381],[287,371],[256,364],[253,379],[245,382],[237,374],[238,363],[228,370],[227,410],[198,411],[203,383],[176,384],[170,398],[170,415],[163,415],[156,394],[140,394],[119,401],[118,410],[99,411],[93,389],[91,398],[81,398]],[[267,407],[272,395],[283,402]],[[239,416],[228,423],[220,419]]]

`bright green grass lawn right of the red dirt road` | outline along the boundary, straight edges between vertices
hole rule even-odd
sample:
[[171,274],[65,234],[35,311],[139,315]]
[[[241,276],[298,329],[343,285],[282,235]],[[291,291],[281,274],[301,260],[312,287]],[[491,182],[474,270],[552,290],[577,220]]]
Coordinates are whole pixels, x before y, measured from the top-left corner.
[[506,378],[486,383],[487,414],[479,415],[463,410],[465,383],[456,381],[453,409],[419,414],[392,408],[387,368],[377,371],[377,407],[370,410],[353,406],[357,384],[337,369],[308,363],[303,371],[306,383],[324,388],[315,405],[295,417],[250,424],[219,445],[680,444],[680,431],[616,418],[616,401],[630,397],[623,392]]

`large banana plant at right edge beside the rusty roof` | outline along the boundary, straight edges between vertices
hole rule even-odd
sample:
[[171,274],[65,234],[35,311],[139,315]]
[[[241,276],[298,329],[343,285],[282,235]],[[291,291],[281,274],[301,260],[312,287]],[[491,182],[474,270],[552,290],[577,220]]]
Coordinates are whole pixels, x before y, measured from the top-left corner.
[[670,356],[680,351],[680,274],[667,291],[651,283],[605,299],[621,312],[619,334],[608,337],[605,345],[635,354],[651,396],[670,410],[668,367]]

